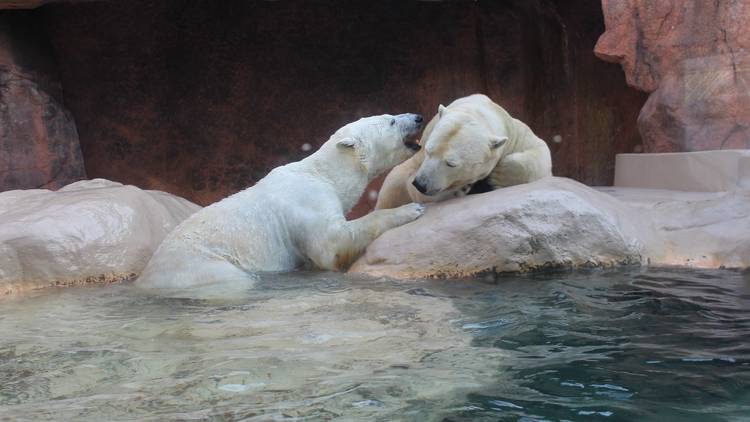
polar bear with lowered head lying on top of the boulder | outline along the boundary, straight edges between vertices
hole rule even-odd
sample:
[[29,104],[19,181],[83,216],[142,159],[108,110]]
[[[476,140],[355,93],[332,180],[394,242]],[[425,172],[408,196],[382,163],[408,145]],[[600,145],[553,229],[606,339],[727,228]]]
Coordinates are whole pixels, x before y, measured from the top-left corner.
[[547,144],[481,94],[440,105],[421,143],[388,174],[375,209],[463,196],[480,181],[491,190],[552,175]]

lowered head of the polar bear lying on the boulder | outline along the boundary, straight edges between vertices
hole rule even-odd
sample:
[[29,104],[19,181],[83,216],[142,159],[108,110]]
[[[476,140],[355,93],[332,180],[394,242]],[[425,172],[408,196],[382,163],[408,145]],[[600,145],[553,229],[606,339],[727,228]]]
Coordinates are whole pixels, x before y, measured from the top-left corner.
[[491,133],[471,113],[441,105],[430,124],[432,131],[422,142],[424,160],[412,182],[424,195],[470,186],[489,176],[503,156],[508,137]]

